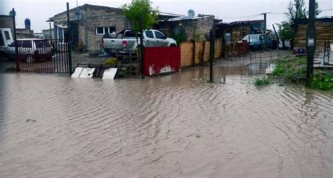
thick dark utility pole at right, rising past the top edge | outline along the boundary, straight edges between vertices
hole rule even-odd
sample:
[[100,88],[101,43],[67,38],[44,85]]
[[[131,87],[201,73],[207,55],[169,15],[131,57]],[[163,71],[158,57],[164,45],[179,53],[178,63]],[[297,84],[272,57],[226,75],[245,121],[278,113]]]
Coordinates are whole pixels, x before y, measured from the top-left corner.
[[313,56],[315,55],[315,0],[310,0],[308,6],[308,30],[306,31],[306,79],[310,84],[313,76]]

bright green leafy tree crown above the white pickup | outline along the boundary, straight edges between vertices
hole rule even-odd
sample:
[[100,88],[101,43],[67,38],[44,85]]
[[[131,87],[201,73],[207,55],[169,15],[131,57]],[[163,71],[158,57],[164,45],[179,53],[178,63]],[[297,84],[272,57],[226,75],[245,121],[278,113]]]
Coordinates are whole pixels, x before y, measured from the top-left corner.
[[143,29],[150,29],[152,25],[157,23],[157,8],[152,8],[150,0],[132,0],[131,4],[122,6],[124,15],[132,22],[132,28],[136,34],[140,32],[140,20]]

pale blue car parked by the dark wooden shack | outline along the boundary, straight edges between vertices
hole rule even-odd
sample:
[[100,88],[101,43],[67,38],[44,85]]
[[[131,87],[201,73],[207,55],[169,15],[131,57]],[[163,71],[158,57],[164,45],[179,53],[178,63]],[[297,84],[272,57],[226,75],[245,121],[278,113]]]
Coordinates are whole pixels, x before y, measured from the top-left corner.
[[[265,46],[265,35],[263,34],[247,34],[244,36],[242,41],[249,42],[249,48],[252,49],[261,49],[261,47]],[[267,48],[273,47],[273,41],[267,36]]]

